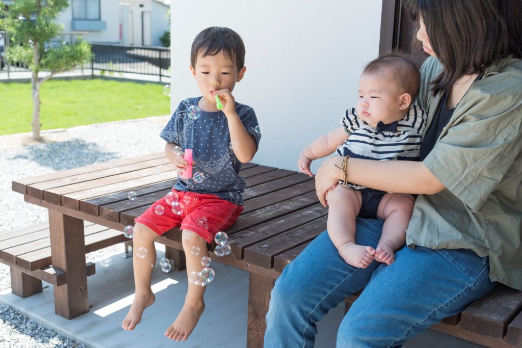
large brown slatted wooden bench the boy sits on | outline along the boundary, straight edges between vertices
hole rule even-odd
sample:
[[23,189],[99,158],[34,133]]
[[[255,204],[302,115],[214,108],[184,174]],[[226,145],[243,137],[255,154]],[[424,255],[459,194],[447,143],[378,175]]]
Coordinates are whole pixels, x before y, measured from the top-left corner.
[[[284,267],[326,229],[327,210],[318,202],[314,181],[307,175],[254,163],[244,164],[240,174],[246,181],[245,208],[238,222],[226,231],[232,252],[224,257],[210,253],[210,257],[249,272],[246,345],[260,347],[275,280]],[[52,255],[62,265],[56,269],[74,269],[74,272],[66,271],[68,283],[81,286],[84,283],[77,274],[81,258],[65,257],[67,249],[61,246],[87,251],[87,239],[76,236],[74,241],[69,241],[65,226],[74,224],[76,230],[82,230],[84,220],[122,231],[126,225],[134,224],[135,217],[151,203],[171,190],[172,177],[175,177],[174,168],[163,153],[158,153],[14,181],[13,190],[23,194],[26,201],[49,209],[57,230],[51,231],[51,244],[53,234],[57,241]],[[127,198],[130,190],[136,192],[136,200]],[[84,239],[85,247],[80,245]],[[174,260],[176,269],[184,269],[179,230],[159,236],[156,242],[165,245],[167,257]],[[210,245],[209,249],[213,250],[213,247]],[[70,319],[85,313],[88,308],[86,294],[61,289],[67,288],[68,283],[55,285],[56,313],[64,313],[67,309],[63,307],[62,297],[74,297],[75,303],[84,304],[73,308],[68,315],[61,314]],[[60,290],[58,295],[57,289]],[[493,297],[488,299],[488,296]],[[471,304],[462,315],[447,318],[445,323],[433,328],[483,345],[520,346],[520,292],[500,288],[488,296]],[[350,296],[348,305],[356,297]],[[508,305],[504,301],[506,298]],[[495,307],[497,304],[500,307]]]

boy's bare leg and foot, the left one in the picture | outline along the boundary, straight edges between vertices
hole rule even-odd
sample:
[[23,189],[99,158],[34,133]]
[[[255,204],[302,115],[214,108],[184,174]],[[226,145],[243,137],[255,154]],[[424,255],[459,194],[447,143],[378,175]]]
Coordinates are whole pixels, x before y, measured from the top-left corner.
[[[122,328],[125,330],[133,330],[141,320],[141,315],[145,308],[154,302],[155,296],[150,289],[150,282],[152,279],[152,270],[156,263],[154,239],[156,239],[157,236],[158,234],[146,225],[137,223],[134,226],[133,268],[136,294],[131,309],[129,309],[122,322]],[[147,256],[145,258],[140,258],[136,255],[140,247],[147,249]]]

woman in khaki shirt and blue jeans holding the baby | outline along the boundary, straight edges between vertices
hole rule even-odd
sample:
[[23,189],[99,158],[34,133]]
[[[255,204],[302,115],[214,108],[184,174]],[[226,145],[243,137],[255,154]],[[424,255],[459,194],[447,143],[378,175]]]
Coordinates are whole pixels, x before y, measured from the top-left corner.
[[[324,205],[343,172],[354,184],[418,194],[407,246],[392,265],[361,269],[319,235],[276,281],[265,348],[313,346],[315,323],[363,288],[341,322],[339,347],[399,346],[497,282],[522,288],[522,1],[407,6],[432,56],[417,103],[430,116],[421,162],[349,158],[339,170],[343,158],[330,158],[315,178]],[[382,225],[358,219],[356,243],[375,247]]]

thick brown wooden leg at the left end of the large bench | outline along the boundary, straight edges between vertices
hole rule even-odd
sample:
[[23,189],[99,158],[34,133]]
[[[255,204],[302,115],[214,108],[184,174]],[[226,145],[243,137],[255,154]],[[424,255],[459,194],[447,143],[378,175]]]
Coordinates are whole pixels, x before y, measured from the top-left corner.
[[84,221],[50,209],[49,230],[51,263],[67,277],[66,284],[54,286],[54,311],[73,319],[89,311]]

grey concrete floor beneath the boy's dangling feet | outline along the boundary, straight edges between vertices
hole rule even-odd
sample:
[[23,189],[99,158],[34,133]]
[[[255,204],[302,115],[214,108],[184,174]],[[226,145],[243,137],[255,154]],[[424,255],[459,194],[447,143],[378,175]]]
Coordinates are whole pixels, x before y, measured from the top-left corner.
[[[161,245],[157,255],[163,257]],[[123,247],[122,247],[123,249]],[[96,263],[96,274],[88,278],[90,311],[73,320],[54,314],[53,289],[20,298],[8,293],[0,295],[0,302],[8,304],[27,316],[52,327],[90,347],[226,347],[242,348],[246,342],[248,273],[213,262],[216,278],[207,287],[206,310],[198,326],[185,342],[172,342],[163,336],[183,305],[187,290],[184,271],[161,272],[158,263],[153,273],[156,302],[144,313],[134,331],[124,331],[121,322],[132,303],[134,282],[132,259],[112,255],[109,267]],[[44,283],[45,285],[46,283]],[[339,322],[343,317],[340,304],[318,324],[316,347],[335,346]],[[480,347],[443,333],[427,330],[404,344],[405,348],[470,348]]]

